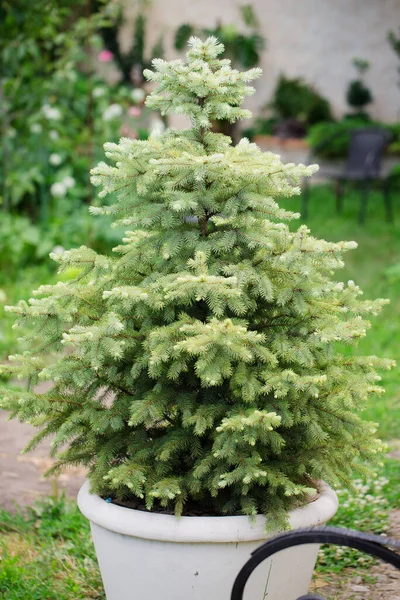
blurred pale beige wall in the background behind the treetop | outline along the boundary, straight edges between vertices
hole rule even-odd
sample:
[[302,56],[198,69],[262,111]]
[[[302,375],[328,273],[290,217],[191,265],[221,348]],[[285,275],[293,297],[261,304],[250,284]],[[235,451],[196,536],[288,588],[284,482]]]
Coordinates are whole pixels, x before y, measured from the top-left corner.
[[[153,0],[149,9],[149,37],[165,33],[167,57],[175,56],[172,33],[184,22],[213,26],[240,20],[238,5],[248,0]],[[134,0],[125,0],[123,41],[130,39]],[[304,78],[332,103],[337,116],[348,110],[346,86],[355,76],[352,59],[367,59],[366,75],[374,95],[373,117],[400,119],[400,75],[397,60],[386,36],[400,27],[400,0],[252,0],[267,40],[263,76],[250,108],[266,104],[280,72]]]

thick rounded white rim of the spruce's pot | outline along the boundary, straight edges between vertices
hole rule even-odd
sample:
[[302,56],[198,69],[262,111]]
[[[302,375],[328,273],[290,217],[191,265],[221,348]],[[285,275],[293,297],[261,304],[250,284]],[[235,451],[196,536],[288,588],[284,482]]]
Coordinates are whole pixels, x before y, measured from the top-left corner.
[[[289,513],[290,527],[298,529],[326,523],[336,513],[338,498],[324,481],[318,481],[319,496]],[[111,504],[90,493],[85,481],[78,493],[82,514],[96,525],[130,537],[175,543],[237,543],[265,540],[265,517],[247,516],[175,517]]]

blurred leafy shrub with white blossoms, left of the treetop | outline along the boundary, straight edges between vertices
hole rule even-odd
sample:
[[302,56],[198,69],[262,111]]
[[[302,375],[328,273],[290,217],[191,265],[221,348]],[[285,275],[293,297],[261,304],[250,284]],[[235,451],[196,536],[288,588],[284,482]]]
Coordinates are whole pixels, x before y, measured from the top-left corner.
[[147,136],[144,91],[97,74],[108,62],[98,31],[115,19],[114,3],[100,4],[91,15],[75,0],[0,8],[0,204],[32,222],[55,218],[61,200],[92,201],[104,140]]

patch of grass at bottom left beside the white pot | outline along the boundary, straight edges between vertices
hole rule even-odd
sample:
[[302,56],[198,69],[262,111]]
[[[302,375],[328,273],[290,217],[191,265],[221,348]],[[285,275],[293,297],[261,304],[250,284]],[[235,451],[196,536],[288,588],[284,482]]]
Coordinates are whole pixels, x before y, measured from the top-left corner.
[[17,514],[0,508],[0,598],[105,600],[89,523],[74,503],[48,498]]

